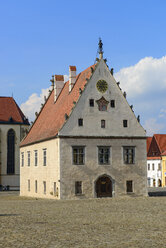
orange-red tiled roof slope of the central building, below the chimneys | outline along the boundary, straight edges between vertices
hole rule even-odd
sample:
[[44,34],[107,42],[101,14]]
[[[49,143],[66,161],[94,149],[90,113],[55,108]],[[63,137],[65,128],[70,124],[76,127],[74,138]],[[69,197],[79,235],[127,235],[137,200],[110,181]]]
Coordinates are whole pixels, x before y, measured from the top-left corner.
[[51,139],[58,134],[58,131],[66,122],[65,116],[70,115],[75,102],[79,99],[79,89],[81,88],[83,91],[87,83],[86,79],[89,79],[92,74],[91,67],[94,69],[95,65],[88,67],[77,75],[71,92],[69,92],[69,81],[67,81],[56,102],[54,102],[54,90],[52,90],[28,135],[21,142],[21,147]]

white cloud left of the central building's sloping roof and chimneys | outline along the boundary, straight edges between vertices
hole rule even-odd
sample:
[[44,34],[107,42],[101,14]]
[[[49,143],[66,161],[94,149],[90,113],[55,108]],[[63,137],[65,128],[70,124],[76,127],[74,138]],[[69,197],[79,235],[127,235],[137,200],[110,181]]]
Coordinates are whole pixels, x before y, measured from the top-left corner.
[[49,89],[42,89],[40,95],[33,93],[26,102],[21,104],[20,108],[29,121],[35,119],[35,112],[40,111],[41,103],[44,103],[44,96],[48,96]]

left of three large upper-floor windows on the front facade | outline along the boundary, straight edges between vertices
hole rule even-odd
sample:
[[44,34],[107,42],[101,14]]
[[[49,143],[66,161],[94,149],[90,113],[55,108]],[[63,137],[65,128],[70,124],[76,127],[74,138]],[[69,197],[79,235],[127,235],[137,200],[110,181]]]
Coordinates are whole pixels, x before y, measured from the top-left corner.
[[[77,149],[77,152],[74,153],[74,150]],[[83,152],[81,153],[79,149],[83,149]],[[80,157],[82,155],[82,160],[80,162]],[[76,160],[75,160],[76,156]],[[85,146],[72,146],[72,164],[73,165],[84,165],[85,164]]]

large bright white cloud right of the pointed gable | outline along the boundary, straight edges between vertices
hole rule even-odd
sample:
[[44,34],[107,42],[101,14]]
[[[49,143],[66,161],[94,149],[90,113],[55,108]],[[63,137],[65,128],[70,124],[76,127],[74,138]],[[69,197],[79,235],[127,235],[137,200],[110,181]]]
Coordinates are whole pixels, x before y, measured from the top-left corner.
[[115,78],[131,98],[166,89],[166,56],[159,59],[145,57],[115,73]]

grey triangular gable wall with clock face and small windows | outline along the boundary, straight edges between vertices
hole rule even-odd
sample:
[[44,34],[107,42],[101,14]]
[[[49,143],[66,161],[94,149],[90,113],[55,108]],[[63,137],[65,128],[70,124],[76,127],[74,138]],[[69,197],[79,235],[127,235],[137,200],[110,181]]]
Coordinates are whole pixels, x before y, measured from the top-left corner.
[[[98,80],[108,83],[108,90],[100,93],[96,88]],[[115,108],[108,104],[107,111],[99,111],[96,100],[104,97],[107,101],[115,100]],[[89,106],[89,99],[95,100],[95,106]],[[83,127],[78,126],[78,119],[83,118]],[[106,120],[106,128],[101,128],[101,120]],[[123,120],[128,120],[128,127],[123,127]],[[85,90],[76,103],[69,119],[59,132],[60,135],[80,136],[145,136],[145,131],[138,123],[115,79],[110,74],[104,61],[98,64]]]

